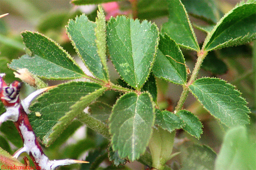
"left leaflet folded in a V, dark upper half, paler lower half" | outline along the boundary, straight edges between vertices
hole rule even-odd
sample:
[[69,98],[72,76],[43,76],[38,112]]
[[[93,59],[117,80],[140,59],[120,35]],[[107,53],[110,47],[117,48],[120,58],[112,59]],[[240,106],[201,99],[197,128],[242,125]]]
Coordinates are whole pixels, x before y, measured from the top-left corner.
[[[29,60],[28,55],[23,55],[21,59],[14,60],[10,64],[11,68],[21,69],[30,65],[27,68],[30,72],[47,79],[74,79],[83,77],[84,72],[59,44],[40,33],[26,31],[21,33],[21,35],[26,47],[34,55],[30,57],[32,61]],[[40,66],[45,70],[39,68],[38,63],[41,63],[42,65],[40,64]]]

